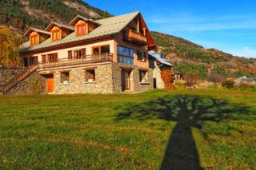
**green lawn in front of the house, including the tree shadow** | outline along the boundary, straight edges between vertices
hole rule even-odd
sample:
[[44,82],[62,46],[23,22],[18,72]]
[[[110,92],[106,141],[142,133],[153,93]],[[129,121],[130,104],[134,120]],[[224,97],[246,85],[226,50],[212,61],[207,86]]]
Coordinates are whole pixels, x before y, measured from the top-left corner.
[[0,169],[256,167],[256,92],[0,96]]

